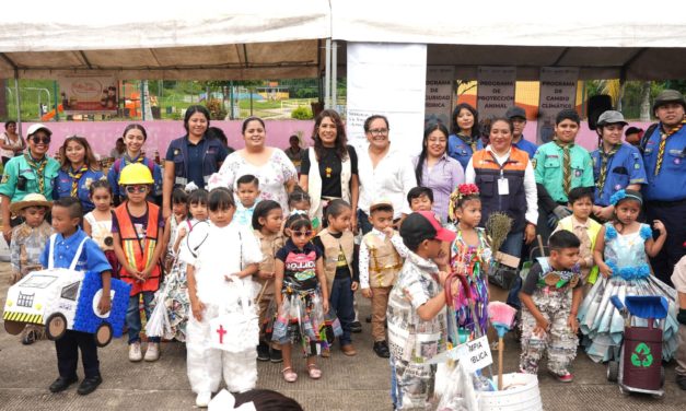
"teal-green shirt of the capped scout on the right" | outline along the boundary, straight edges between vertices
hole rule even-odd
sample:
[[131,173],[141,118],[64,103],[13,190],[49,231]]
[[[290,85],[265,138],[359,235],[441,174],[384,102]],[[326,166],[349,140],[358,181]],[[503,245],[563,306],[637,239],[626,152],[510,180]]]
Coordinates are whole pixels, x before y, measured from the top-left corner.
[[[593,161],[591,154],[579,144],[570,149],[571,188],[593,187]],[[562,148],[554,141],[538,148],[534,155],[536,184],[542,184],[556,202],[566,203],[567,193],[562,185]],[[570,189],[571,189],[570,188]]]

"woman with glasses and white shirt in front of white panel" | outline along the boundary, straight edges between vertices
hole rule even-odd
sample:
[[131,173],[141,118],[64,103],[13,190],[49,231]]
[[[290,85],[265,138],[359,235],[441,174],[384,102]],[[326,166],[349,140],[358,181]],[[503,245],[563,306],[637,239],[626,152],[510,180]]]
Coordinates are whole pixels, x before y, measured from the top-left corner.
[[373,115],[364,120],[364,133],[369,146],[358,155],[360,200],[358,223],[362,234],[372,230],[369,209],[379,198],[393,202],[394,223],[411,211],[407,202],[408,191],[417,186],[410,158],[402,151],[391,148],[388,119]]

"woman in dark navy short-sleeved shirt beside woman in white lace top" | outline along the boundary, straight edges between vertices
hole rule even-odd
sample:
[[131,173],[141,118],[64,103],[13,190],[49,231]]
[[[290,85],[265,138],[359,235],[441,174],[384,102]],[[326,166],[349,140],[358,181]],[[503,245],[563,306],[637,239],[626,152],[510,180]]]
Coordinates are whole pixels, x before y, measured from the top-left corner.
[[210,176],[219,171],[226,158],[226,146],[208,132],[209,127],[210,111],[205,106],[186,109],[186,134],[172,140],[164,157],[162,210],[165,219],[172,214],[174,187],[184,188],[193,181],[198,188],[207,189]]

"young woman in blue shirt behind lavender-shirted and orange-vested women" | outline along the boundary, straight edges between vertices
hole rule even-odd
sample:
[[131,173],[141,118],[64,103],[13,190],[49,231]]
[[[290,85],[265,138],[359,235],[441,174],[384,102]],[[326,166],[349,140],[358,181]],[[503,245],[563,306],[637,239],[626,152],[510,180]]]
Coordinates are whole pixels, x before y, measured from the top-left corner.
[[484,149],[476,108],[467,103],[458,104],[453,110],[451,132],[447,138],[447,155],[457,160],[464,169],[472,155]]

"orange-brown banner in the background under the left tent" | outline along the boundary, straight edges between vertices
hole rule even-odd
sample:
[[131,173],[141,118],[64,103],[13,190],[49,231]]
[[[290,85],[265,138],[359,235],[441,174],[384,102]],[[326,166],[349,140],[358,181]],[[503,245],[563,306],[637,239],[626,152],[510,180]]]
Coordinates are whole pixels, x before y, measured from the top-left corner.
[[117,80],[113,75],[65,75],[59,79],[66,114],[117,113]]

